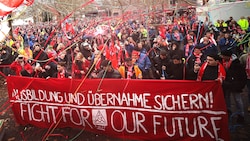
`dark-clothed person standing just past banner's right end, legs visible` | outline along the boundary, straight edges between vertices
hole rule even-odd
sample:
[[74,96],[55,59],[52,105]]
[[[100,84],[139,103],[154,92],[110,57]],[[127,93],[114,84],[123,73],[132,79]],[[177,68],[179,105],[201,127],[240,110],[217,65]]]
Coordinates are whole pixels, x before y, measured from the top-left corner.
[[237,122],[244,122],[244,105],[241,97],[241,92],[246,85],[247,76],[245,68],[240,63],[238,57],[232,54],[231,50],[221,52],[222,63],[226,70],[226,78],[223,81],[223,91],[226,99],[227,108],[229,114],[231,113],[231,98],[236,103],[236,109],[238,114]]

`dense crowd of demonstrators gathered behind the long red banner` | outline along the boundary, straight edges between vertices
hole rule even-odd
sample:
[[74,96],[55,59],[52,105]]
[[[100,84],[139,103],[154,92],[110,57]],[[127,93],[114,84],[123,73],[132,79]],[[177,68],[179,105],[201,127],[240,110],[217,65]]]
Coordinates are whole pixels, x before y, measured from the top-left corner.
[[1,42],[1,74],[44,79],[216,80],[222,84],[228,112],[233,96],[238,121],[244,122],[240,94],[247,86],[250,105],[250,17],[234,18],[238,17],[200,21],[189,9],[179,16],[17,26],[13,36]]

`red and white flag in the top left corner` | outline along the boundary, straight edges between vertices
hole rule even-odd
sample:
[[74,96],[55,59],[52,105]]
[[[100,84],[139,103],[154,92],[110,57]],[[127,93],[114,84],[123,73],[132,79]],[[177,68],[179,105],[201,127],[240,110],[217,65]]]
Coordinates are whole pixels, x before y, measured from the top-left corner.
[[0,0],[0,16],[5,16],[15,10],[24,0]]

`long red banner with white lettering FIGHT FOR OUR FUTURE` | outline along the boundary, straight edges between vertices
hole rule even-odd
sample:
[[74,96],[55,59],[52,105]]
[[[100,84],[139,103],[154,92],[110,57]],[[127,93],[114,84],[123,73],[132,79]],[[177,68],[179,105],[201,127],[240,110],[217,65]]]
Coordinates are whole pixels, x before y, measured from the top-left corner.
[[229,140],[219,82],[7,78],[16,121],[135,140]]

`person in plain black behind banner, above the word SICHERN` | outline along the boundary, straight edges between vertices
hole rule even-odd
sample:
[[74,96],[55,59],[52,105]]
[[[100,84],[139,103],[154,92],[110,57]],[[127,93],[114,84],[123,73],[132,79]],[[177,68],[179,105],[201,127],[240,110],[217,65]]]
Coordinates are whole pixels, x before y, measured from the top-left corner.
[[182,80],[184,64],[181,56],[174,55],[167,65],[168,79]]

